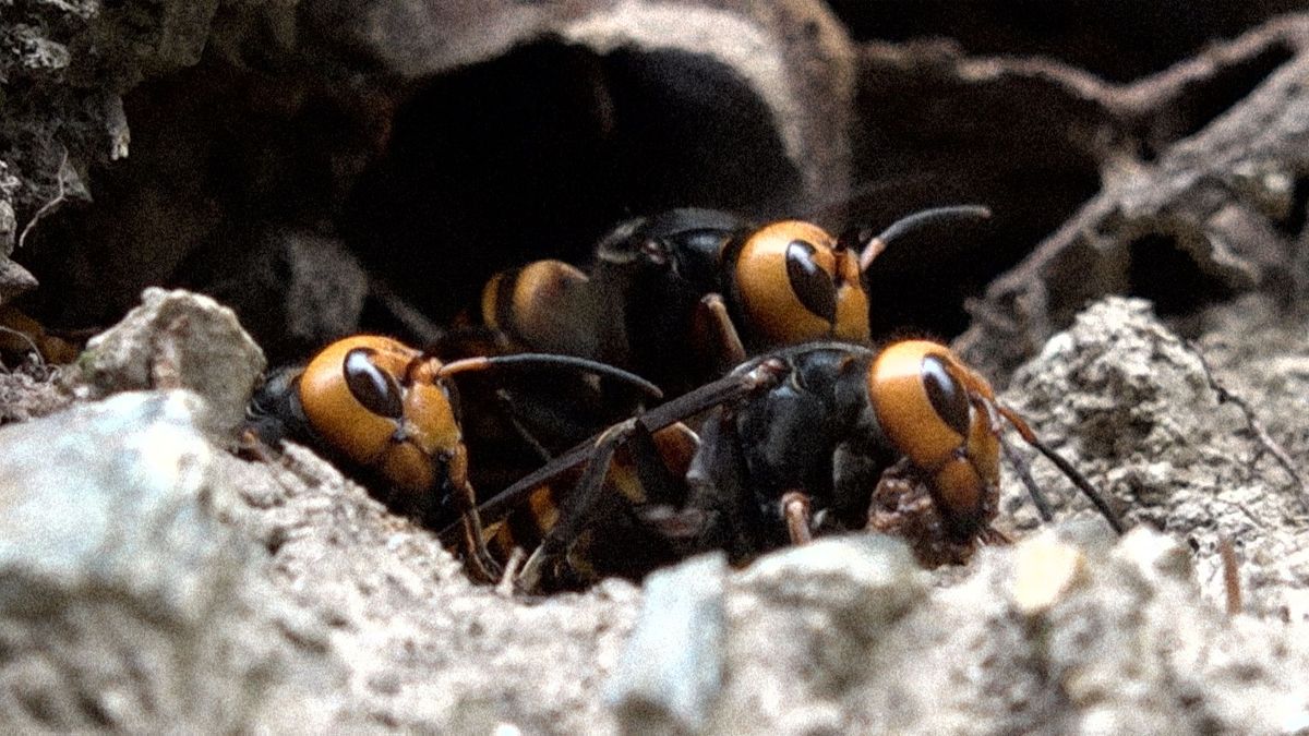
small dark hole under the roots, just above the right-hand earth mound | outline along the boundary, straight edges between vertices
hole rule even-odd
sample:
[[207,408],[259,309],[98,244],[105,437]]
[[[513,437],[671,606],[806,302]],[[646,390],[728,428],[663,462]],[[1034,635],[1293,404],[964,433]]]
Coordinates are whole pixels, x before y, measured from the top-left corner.
[[1161,317],[1175,317],[1230,299],[1233,292],[1204,272],[1175,236],[1155,233],[1131,244],[1128,295],[1153,301]]

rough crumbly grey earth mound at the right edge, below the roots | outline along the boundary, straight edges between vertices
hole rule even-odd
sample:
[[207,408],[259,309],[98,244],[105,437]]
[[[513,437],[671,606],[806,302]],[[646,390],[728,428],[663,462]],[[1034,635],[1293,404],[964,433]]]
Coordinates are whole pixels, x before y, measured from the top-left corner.
[[[1224,600],[1219,546],[1227,538],[1240,561],[1246,608],[1305,621],[1304,314],[1251,296],[1194,322],[1196,339],[1183,340],[1152,318],[1147,303],[1109,300],[1051,339],[1018,371],[1008,396],[1043,433],[1062,440],[1076,465],[1102,478],[1128,519],[1194,550],[1206,597]],[[1250,414],[1220,402],[1211,376]],[[1056,487],[1058,475],[1037,465],[1037,477]],[[1009,508],[1022,503],[1018,495],[1011,492]],[[1034,523],[1026,509],[1013,519]]]

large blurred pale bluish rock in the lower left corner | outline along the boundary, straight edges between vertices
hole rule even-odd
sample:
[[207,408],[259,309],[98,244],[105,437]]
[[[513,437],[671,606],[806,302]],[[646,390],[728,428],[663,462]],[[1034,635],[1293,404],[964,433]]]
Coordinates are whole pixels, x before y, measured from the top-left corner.
[[225,483],[194,394],[123,393],[0,431],[7,731],[226,731],[268,661],[236,623],[251,547],[206,512]]

